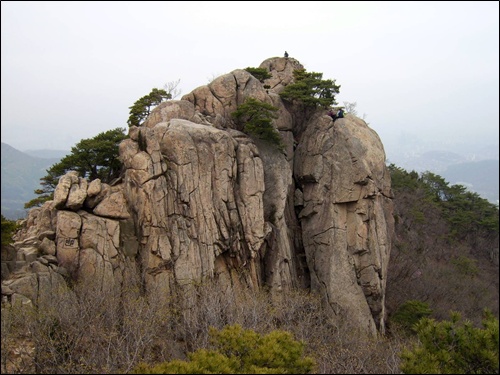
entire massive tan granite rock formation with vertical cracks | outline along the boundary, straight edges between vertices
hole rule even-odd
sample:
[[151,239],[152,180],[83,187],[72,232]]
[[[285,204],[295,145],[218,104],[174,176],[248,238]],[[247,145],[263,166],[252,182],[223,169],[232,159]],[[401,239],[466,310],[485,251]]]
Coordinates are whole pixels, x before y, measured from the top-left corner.
[[[217,278],[225,288],[311,288],[332,315],[383,332],[394,233],[383,145],[355,116],[333,123],[286,106],[279,92],[297,60],[260,67],[272,75],[267,90],[234,70],[131,127],[113,186],[63,176],[54,200],[30,211],[17,262],[2,264],[2,294],[36,301],[68,275],[118,291],[138,273],[146,293],[163,295]],[[284,152],[236,129],[231,113],[249,97],[279,108]]]

